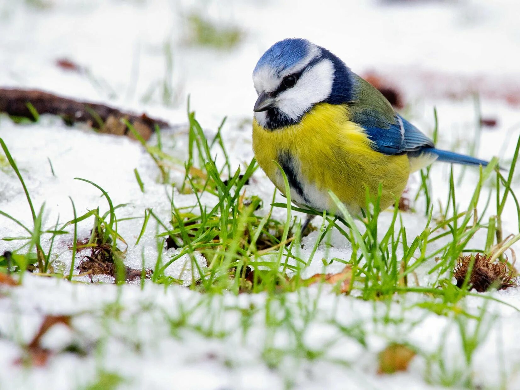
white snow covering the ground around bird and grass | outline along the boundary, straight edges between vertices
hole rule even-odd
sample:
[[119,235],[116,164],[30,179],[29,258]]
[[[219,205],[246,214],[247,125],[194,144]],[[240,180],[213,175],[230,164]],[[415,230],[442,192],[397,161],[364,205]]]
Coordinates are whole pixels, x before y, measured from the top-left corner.
[[[319,6],[310,1],[295,6],[288,0],[267,4],[253,0],[222,4],[168,0],[47,3],[47,9],[38,9],[22,2],[0,2],[0,85],[42,88],[161,116],[178,124],[166,129],[162,139],[167,151],[181,161],[186,158],[188,93],[191,107],[207,128],[207,134],[214,134],[223,116],[229,115],[223,136],[233,166],[251,160],[250,125],[243,124],[244,119],[250,120],[255,101],[251,73],[263,51],[287,36],[307,37],[331,49],[356,72],[376,69],[396,79],[402,77],[403,84],[399,85],[404,85],[411,102],[409,117],[425,132],[431,132],[435,106],[440,123],[439,145],[445,148],[469,150],[475,128],[474,102],[471,97],[453,100],[446,94],[421,89],[417,81],[422,80],[422,72],[448,74],[452,77],[449,80],[482,77],[486,90],[492,89],[496,80],[520,85],[520,27],[516,17],[519,8],[512,0],[399,4],[327,0]],[[243,42],[229,51],[188,45],[183,15],[193,9],[221,23],[239,25],[245,32]],[[165,76],[166,43],[173,48],[171,79]],[[85,70],[63,71],[55,65],[59,58],[69,58]],[[177,96],[174,101],[162,101],[157,89],[151,100],[144,103],[142,98],[147,91],[163,83],[165,77],[166,83],[173,85]],[[520,129],[517,107],[488,97],[480,105],[484,116],[498,118],[499,122],[496,128],[483,129],[479,157],[490,159],[499,155],[502,161],[509,161]],[[78,215],[97,206],[101,213],[108,210],[98,189],[74,178],[92,180],[108,191],[114,205],[127,204],[116,211],[118,218],[139,217],[118,226],[128,244],[125,264],[140,269],[144,254],[146,267],[154,266],[158,256],[155,226],[148,226],[138,245],[135,241],[147,207],[164,220],[170,218],[168,197],[172,187],[158,183],[157,168],[137,142],[95,134],[82,126],[69,128],[46,115],[31,125],[15,125],[2,116],[0,137],[14,156],[36,209],[45,203],[46,228],[54,227],[58,217],[60,225],[72,219],[69,197]],[[154,145],[157,139],[152,137],[150,142]],[[56,176],[51,173],[48,159]],[[144,181],[144,193],[137,185],[134,168]],[[455,177],[459,173],[457,168]],[[432,169],[434,199],[443,204],[447,199],[448,174],[447,165],[437,164]],[[477,179],[476,171],[465,170],[457,191],[460,210],[469,202]],[[414,194],[419,178],[412,176],[409,186]],[[515,180],[513,189],[517,191],[519,187]],[[173,191],[178,207],[194,204],[193,195]],[[246,191],[269,204],[274,187],[257,171]],[[483,198],[487,191],[485,188]],[[284,201],[281,197],[278,200]],[[216,199],[204,194],[202,201],[213,205]],[[402,214],[409,241],[426,224],[423,203],[419,200],[415,204],[417,213]],[[0,210],[32,224],[17,177],[2,165]],[[285,218],[281,209],[275,209],[274,216]],[[504,232],[517,233],[513,202],[506,204],[504,216]],[[384,212],[381,226],[387,226],[390,219],[391,212]],[[320,223],[320,218],[314,222],[316,226]],[[78,236],[87,237],[91,225],[91,219],[78,224]],[[0,237],[23,235],[19,226],[2,218]],[[318,232],[313,232],[303,239],[302,257],[310,255],[317,236]],[[479,232],[471,244],[482,246],[479,243],[483,240],[485,232]],[[71,242],[70,236],[59,237],[55,242],[54,253],[58,256],[53,265],[61,266],[63,272],[71,265]],[[303,272],[304,277],[338,272],[344,267],[340,262],[323,267],[322,258],[349,259],[352,251],[335,231],[329,242],[330,246],[319,246],[313,262]],[[48,249],[48,242],[42,244],[44,251]],[[442,244],[433,243],[428,251]],[[17,241],[0,241],[0,253],[17,245]],[[162,258],[176,253],[178,250],[163,249]],[[76,265],[82,257],[77,254]],[[166,272],[189,280],[189,267],[189,258],[185,256],[167,267]],[[426,268],[418,270],[421,284],[433,277],[425,274]],[[484,329],[480,330],[484,332],[484,341],[468,370],[457,323],[450,315],[438,316],[419,307],[410,309],[428,300],[419,294],[399,296],[387,306],[383,302],[337,296],[327,285],[313,285],[287,294],[285,301],[271,301],[264,294],[215,297],[180,285],[165,288],[147,282],[141,289],[132,284],[92,284],[88,277],[75,280],[71,283],[27,274],[19,287],[0,287],[0,362],[6,368],[0,374],[1,388],[81,388],[96,382],[101,372],[120,375],[121,388],[417,389],[437,388],[442,378],[463,378],[469,372],[473,383],[485,388],[520,388],[520,347],[514,342],[520,336],[520,313],[479,297],[467,298],[467,307],[460,308],[472,314],[478,314],[483,305],[486,309]],[[491,295],[520,307],[518,288]],[[313,307],[317,309],[309,319],[307,310]],[[278,314],[289,310],[294,329],[302,332],[301,342],[309,350],[324,349],[324,355],[307,360],[291,354],[298,351],[297,332],[269,323],[268,308]],[[22,355],[21,346],[31,341],[48,314],[73,315],[72,327],[56,326],[44,336],[42,344],[60,350],[77,343],[87,355],[56,354],[43,368],[13,365]],[[388,316],[392,321],[387,320]],[[246,318],[250,321],[248,327],[244,325]],[[417,324],[411,326],[413,322]],[[341,324],[345,333],[334,324]],[[474,323],[468,320],[464,327],[471,334]],[[366,335],[366,347],[349,335],[360,330]],[[412,360],[407,372],[376,375],[377,354],[391,341],[410,343],[421,353]],[[277,368],[271,368],[267,361],[278,358],[277,348],[286,348],[288,353],[282,354]],[[433,356],[437,353],[449,362],[447,372],[436,365]],[[344,364],[335,363],[338,361]],[[458,384],[462,387],[464,380]]]

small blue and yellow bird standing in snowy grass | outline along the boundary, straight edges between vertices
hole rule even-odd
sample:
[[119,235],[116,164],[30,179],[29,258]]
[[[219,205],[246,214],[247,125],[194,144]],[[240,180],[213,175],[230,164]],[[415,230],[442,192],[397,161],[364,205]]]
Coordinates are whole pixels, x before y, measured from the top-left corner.
[[[331,51],[303,38],[272,45],[253,71],[256,161],[294,204],[341,216],[329,190],[352,215],[374,199],[395,203],[412,172],[434,161],[488,162],[435,148],[388,100]],[[307,220],[306,224],[308,224]],[[305,226],[306,226],[305,224]]]

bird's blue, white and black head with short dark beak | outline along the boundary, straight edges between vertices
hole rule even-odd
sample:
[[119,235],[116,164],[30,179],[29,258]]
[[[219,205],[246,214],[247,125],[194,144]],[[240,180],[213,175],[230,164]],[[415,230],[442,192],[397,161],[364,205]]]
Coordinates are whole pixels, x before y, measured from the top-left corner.
[[253,111],[259,124],[276,129],[298,123],[317,103],[350,98],[349,69],[330,51],[301,38],[272,45],[258,60]]

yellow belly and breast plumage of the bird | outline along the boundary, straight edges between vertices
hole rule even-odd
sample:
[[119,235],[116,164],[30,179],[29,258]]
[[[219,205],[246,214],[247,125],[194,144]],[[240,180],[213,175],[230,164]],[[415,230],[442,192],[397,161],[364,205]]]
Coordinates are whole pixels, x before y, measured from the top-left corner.
[[[348,121],[348,108],[320,103],[296,125],[270,131],[253,121],[253,149],[258,164],[282,192],[283,180],[278,161],[290,153],[305,193],[310,193],[307,205],[335,212],[327,195],[332,190],[348,207],[358,213],[366,205],[366,189],[375,198],[382,185],[381,207],[395,202],[404,190],[410,174],[406,154],[385,155],[371,149],[370,139],[363,129]],[[291,195],[298,194],[291,190]],[[322,198],[322,202],[319,199]]]

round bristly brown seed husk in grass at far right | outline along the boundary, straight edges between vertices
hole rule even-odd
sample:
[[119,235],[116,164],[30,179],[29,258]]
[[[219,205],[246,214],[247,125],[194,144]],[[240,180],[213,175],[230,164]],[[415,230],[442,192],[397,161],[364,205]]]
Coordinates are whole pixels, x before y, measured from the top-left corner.
[[[460,256],[453,276],[457,279],[457,286],[462,287],[467,272],[472,264],[473,256]],[[496,262],[490,263],[491,256],[477,253],[474,256],[473,268],[471,270],[470,284],[478,292],[489,290],[495,287],[497,290],[503,290],[516,286],[515,269],[511,268],[508,263]]]

